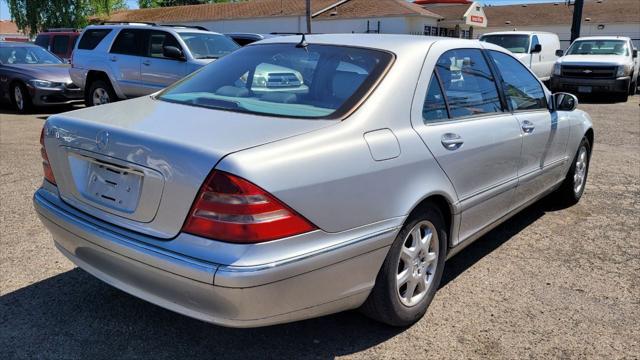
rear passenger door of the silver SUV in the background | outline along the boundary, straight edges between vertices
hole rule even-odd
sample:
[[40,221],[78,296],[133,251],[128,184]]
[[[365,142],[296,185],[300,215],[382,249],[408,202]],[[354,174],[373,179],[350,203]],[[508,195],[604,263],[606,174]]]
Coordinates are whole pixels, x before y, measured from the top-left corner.
[[148,94],[140,78],[143,38],[141,29],[122,29],[109,51],[111,75],[126,97]]

